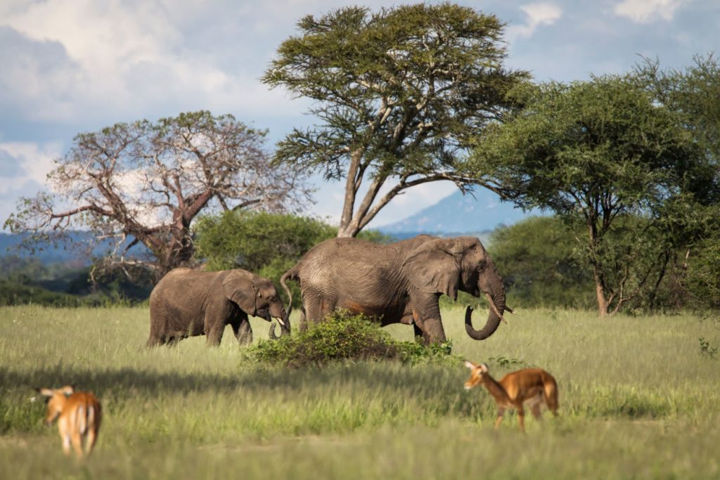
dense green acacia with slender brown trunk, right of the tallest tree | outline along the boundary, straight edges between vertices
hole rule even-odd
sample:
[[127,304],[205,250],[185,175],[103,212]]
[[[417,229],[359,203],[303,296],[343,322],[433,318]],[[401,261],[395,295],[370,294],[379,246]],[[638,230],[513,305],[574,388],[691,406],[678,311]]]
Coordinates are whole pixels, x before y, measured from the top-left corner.
[[548,83],[530,96],[523,112],[485,131],[474,150],[479,175],[572,231],[584,225],[577,240],[598,312],[613,314],[663,274],[678,240],[667,225],[703,195],[697,187],[714,169],[680,117],[633,78]]

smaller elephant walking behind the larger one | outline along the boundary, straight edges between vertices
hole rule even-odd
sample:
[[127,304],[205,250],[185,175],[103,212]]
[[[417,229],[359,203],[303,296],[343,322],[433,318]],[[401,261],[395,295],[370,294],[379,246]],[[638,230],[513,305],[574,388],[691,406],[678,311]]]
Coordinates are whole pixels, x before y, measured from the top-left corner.
[[253,341],[248,315],[268,322],[271,317],[283,319],[289,328],[282,300],[268,279],[240,269],[175,268],[150,294],[148,346],[174,344],[195,335],[207,335],[207,345],[217,346],[228,324],[238,343],[247,345]]

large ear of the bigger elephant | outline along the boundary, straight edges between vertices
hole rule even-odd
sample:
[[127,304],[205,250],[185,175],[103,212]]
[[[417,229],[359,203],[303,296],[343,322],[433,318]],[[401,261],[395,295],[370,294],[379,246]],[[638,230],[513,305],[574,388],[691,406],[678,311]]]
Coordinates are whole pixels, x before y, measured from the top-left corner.
[[405,275],[416,289],[426,294],[446,294],[457,299],[460,265],[450,238],[429,240],[415,248],[402,264]]

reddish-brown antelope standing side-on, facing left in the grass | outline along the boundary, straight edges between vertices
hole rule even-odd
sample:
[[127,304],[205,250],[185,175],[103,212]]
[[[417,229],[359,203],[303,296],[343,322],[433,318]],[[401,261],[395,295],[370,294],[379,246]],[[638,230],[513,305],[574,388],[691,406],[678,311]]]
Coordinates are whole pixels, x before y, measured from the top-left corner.
[[503,376],[496,381],[487,371],[487,365],[477,365],[469,360],[465,366],[470,369],[470,378],[465,382],[465,389],[469,390],[482,384],[490,392],[495,403],[498,404],[498,418],[495,428],[500,427],[503,415],[508,408],[518,409],[518,422],[520,430],[525,431],[525,410],[523,404],[528,402],[530,411],[537,420],[542,420],[541,404],[545,404],[557,417],[557,382],[542,368],[523,368]]

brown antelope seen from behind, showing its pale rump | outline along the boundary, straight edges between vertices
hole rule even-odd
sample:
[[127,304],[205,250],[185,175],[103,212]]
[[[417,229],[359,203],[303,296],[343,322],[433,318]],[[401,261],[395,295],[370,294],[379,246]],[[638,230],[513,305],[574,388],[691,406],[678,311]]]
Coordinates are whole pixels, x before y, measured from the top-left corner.
[[95,446],[102,419],[100,403],[95,396],[89,391],[75,391],[72,386],[37,391],[43,397],[48,397],[48,415],[45,416],[45,422],[50,425],[58,420],[63,452],[70,455],[72,444],[78,457],[83,456],[83,453],[89,454]]

